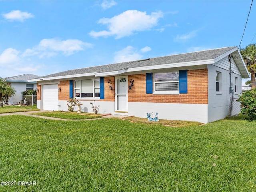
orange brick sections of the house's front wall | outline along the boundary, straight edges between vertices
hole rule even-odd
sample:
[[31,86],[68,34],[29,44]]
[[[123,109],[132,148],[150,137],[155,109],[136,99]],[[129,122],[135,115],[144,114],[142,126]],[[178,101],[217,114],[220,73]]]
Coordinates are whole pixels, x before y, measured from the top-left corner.
[[[134,86],[129,90],[130,79]],[[108,81],[112,82],[110,90]],[[58,87],[59,100],[69,99],[69,80],[60,81]],[[39,92],[37,100],[41,100],[41,86],[37,84]],[[188,70],[188,93],[177,95],[146,94],[146,74],[128,75],[128,102],[155,102],[155,103],[186,103],[208,104],[208,69]],[[74,92],[74,81],[73,81]],[[80,101],[86,101],[84,99]],[[92,100],[88,100],[92,101]],[[104,78],[104,99],[97,101],[115,101],[115,77]]]

